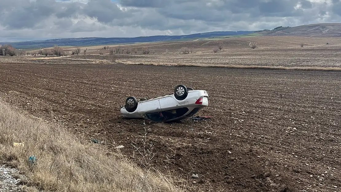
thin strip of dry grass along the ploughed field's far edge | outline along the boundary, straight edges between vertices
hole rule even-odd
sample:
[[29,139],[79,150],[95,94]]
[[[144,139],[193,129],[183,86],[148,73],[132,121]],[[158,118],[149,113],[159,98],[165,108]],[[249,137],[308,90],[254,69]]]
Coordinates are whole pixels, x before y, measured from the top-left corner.
[[133,63],[130,61],[116,61],[119,64],[133,65],[159,65],[159,66],[175,66],[175,67],[207,67],[207,68],[225,68],[225,69],[263,69],[263,70],[287,70],[287,71],[330,71],[341,72],[339,67],[282,67],[282,66],[244,66],[244,65],[211,65],[211,64],[183,64],[183,63]]

